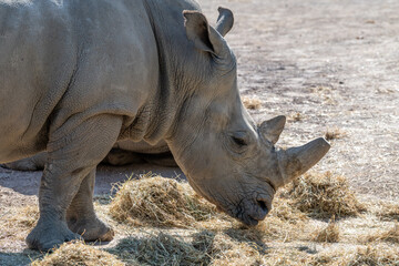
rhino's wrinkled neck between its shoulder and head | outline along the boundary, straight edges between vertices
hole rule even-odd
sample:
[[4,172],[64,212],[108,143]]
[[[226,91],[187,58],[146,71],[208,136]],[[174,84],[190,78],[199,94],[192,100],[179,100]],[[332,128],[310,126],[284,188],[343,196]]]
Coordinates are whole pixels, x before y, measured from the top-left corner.
[[180,7],[168,1],[144,0],[144,7],[151,21],[156,41],[158,57],[158,81],[155,95],[139,110],[133,122],[131,139],[144,139],[156,144],[173,135],[184,102],[193,93],[184,84],[184,62],[187,59],[188,40],[183,23],[183,9],[198,7]]

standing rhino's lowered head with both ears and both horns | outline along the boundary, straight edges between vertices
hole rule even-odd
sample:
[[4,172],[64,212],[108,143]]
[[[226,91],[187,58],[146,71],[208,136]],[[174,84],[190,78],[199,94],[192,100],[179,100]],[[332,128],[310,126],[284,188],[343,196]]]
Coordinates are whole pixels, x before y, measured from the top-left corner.
[[185,64],[185,86],[195,90],[182,104],[168,145],[198,194],[256,225],[270,211],[276,190],[315,165],[329,144],[320,137],[277,150],[285,116],[257,126],[239,98],[236,59],[223,38],[233,27],[233,13],[219,8],[215,28],[198,11],[183,16],[194,61]]

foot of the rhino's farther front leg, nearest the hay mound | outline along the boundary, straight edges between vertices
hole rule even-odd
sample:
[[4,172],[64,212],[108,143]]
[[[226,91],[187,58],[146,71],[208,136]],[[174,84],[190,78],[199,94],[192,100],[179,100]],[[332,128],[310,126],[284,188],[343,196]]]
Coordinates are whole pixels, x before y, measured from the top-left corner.
[[68,227],[81,235],[86,242],[110,242],[114,237],[114,231],[98,217],[93,219],[69,219]]

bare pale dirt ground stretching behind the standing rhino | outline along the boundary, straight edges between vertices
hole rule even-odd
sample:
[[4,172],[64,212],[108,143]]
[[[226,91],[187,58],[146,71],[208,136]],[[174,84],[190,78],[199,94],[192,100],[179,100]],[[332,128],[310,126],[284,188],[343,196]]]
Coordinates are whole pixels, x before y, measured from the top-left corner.
[[[300,145],[334,133],[331,150],[315,167],[348,178],[362,198],[399,198],[399,1],[200,1],[209,19],[217,7],[235,13],[226,37],[238,60],[243,98],[259,99],[256,122],[287,115],[279,145]],[[96,194],[126,175],[178,168],[100,166]],[[0,167],[0,219],[35,203],[40,172]],[[0,233],[0,265],[24,265],[22,239]]]

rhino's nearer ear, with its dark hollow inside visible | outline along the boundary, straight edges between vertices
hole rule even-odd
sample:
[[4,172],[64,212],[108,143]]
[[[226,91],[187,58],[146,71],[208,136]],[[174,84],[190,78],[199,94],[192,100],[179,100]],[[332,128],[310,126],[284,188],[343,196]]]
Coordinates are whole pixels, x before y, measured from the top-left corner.
[[223,37],[209,27],[205,16],[198,11],[184,10],[185,29],[188,40],[194,45],[205,52],[209,52],[218,58],[224,58],[225,47],[227,45]]

